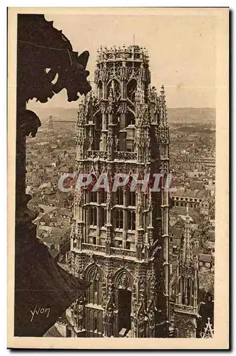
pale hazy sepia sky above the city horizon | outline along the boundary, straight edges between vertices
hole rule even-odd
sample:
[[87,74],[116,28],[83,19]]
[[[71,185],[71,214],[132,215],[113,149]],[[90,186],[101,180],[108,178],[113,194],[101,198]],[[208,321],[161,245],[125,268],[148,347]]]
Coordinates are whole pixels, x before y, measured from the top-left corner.
[[[93,80],[97,49],[102,46],[145,46],[150,56],[151,84],[165,85],[169,108],[215,107],[215,17],[214,16],[113,16],[46,15],[62,30],[74,51],[88,50],[88,70]],[[40,106],[30,103],[29,107]],[[44,107],[76,108],[68,103],[66,90]]]

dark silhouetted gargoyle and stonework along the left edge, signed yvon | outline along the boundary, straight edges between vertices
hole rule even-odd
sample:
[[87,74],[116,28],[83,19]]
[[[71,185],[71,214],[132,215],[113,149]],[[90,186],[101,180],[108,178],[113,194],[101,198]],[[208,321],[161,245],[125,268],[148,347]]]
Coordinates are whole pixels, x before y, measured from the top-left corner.
[[36,238],[32,221],[37,213],[27,207],[31,197],[26,194],[26,136],[35,137],[41,122],[26,110],[26,103],[34,98],[46,103],[63,88],[68,101],[88,93],[88,56],[88,51],[78,56],[43,15],[18,15],[14,336],[43,336],[87,288],[85,281],[58,266]]

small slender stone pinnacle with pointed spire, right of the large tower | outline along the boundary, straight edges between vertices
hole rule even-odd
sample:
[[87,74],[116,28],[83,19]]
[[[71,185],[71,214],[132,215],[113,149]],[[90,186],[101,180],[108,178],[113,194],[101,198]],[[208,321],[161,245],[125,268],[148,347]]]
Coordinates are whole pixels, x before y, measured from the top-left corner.
[[174,305],[176,337],[196,337],[198,294],[197,265],[197,258],[193,257],[187,206],[185,233],[183,234],[178,258],[176,301]]

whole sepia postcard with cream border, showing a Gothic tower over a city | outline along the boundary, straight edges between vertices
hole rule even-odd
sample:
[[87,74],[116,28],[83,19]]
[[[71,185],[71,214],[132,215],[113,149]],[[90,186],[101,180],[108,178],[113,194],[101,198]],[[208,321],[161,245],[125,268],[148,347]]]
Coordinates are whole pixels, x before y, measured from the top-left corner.
[[227,349],[229,9],[8,16],[9,347]]

